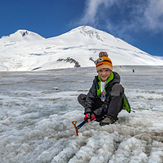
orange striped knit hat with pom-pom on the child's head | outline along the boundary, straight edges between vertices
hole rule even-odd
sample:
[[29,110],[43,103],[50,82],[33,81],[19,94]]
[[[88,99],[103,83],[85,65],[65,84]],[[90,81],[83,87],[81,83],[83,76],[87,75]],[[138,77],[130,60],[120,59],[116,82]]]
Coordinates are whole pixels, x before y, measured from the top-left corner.
[[96,70],[99,71],[102,68],[108,68],[111,71],[113,70],[112,61],[108,58],[107,52],[100,52],[99,58],[95,61]]

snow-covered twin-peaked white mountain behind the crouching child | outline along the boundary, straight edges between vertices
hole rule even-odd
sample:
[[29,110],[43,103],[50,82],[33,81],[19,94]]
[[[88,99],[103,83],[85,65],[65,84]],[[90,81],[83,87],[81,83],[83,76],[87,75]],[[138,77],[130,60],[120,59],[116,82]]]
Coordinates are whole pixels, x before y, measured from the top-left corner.
[[113,65],[163,65],[163,60],[89,26],[45,39],[27,30],[0,39],[0,71],[91,67],[100,51]]

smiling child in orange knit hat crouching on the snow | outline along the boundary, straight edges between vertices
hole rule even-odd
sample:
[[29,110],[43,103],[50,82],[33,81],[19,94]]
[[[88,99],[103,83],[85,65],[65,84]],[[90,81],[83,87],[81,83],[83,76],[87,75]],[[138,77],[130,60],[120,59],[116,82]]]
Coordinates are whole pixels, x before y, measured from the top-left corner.
[[95,61],[98,76],[95,76],[87,95],[78,96],[79,103],[85,108],[88,122],[96,120],[100,125],[109,125],[118,120],[122,109],[131,111],[124,88],[120,84],[120,76],[113,72],[113,65],[106,52],[100,52]]

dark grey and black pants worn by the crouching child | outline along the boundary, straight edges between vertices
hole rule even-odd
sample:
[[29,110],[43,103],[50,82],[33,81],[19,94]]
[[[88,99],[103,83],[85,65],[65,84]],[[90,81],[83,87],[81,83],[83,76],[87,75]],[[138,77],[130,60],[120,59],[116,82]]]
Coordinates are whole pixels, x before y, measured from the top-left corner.
[[[121,84],[115,84],[111,91],[111,100],[107,104],[107,110],[102,109],[102,105],[104,104],[100,98],[94,99],[94,105],[91,110],[96,116],[96,120],[100,121],[104,118],[104,116],[111,117],[114,120],[117,120],[118,113],[122,110],[123,106],[123,96],[124,96],[124,88]],[[78,96],[78,102],[85,107],[86,95],[80,94]]]

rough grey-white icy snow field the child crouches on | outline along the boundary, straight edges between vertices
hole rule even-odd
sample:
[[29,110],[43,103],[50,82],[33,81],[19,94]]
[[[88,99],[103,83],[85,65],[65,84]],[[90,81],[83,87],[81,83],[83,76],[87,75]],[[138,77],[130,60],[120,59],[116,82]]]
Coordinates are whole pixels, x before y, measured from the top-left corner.
[[[135,72],[133,73],[133,69]],[[163,67],[115,67],[132,110],[84,125],[95,68],[0,73],[0,163],[162,163]]]

